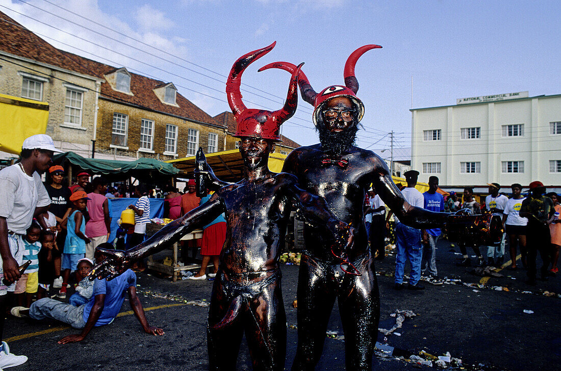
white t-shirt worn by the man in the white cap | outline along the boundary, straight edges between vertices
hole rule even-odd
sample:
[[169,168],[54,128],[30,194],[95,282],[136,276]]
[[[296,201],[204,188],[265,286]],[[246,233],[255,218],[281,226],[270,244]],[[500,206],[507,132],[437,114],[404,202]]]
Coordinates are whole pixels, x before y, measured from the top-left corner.
[[0,216],[6,218],[8,230],[25,234],[33,221],[35,207],[48,205],[49,194],[36,171],[30,177],[20,164],[0,170]]

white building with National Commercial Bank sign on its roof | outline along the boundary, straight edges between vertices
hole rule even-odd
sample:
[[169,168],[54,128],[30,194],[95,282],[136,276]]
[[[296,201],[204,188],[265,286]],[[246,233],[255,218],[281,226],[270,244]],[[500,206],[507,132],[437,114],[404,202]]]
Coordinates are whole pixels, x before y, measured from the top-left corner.
[[[561,187],[561,95],[528,92],[411,109],[411,168],[447,189],[496,182]],[[477,192],[477,190],[476,190]]]

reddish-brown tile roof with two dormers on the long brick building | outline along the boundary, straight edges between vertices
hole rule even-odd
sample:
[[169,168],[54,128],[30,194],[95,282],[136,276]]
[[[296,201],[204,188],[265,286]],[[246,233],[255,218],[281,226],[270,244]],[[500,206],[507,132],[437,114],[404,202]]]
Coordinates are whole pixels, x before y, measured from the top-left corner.
[[[103,75],[107,75],[118,69],[104,63],[80,57],[80,55],[57,49],[1,11],[0,50],[102,79],[104,78]],[[129,73],[131,74],[131,92],[134,95],[128,95],[113,90],[112,87],[105,82],[101,87],[101,96],[122,103],[133,104],[142,108],[211,124],[213,126],[226,127],[225,124],[218,123],[213,117],[191,103],[191,101],[187,100],[184,96],[179,94],[179,92],[176,96],[178,107],[162,103],[155,95],[153,89],[167,83],[137,75],[136,73]]]

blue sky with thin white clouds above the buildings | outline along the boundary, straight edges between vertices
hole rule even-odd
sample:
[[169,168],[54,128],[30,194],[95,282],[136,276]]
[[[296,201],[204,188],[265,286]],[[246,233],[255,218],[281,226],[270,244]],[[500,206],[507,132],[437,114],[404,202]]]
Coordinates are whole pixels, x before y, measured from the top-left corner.
[[[224,76],[232,63],[272,41],[272,52],[243,75],[247,106],[278,109],[286,96],[288,73],[257,73],[266,63],[305,62],[319,91],[343,84],[353,50],[382,45],[356,66],[357,95],[366,106],[358,145],[370,149],[387,148],[392,130],[397,148],[410,146],[412,106],[517,91],[561,94],[559,1],[0,0],[0,6],[58,48],[174,82],[210,115],[228,110]],[[311,110],[300,99],[283,134],[301,145],[317,142]]]

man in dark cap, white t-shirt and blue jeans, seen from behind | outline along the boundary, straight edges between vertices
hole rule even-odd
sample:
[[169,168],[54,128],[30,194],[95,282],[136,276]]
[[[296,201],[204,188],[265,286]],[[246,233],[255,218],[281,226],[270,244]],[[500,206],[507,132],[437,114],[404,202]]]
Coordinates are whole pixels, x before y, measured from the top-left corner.
[[[425,199],[422,193],[415,189],[417,184],[417,177],[419,171],[409,170],[404,173],[407,180],[407,187],[403,188],[401,193],[403,198],[411,206],[423,207]],[[403,289],[403,270],[407,259],[411,263],[411,273],[407,289],[409,290],[423,290],[425,286],[419,284],[421,279],[421,230],[410,227],[399,222],[397,219],[396,234],[397,234],[397,256],[396,256],[396,290]]]

